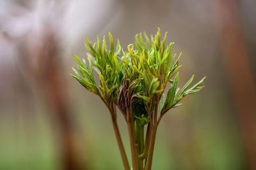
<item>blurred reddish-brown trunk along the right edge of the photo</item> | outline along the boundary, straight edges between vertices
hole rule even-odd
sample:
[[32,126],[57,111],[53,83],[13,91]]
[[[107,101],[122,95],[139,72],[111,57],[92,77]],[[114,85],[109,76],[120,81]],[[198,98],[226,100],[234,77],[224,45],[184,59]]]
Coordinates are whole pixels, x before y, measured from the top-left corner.
[[216,0],[223,53],[237,113],[241,122],[250,169],[256,169],[256,91],[246,50],[237,1]]

